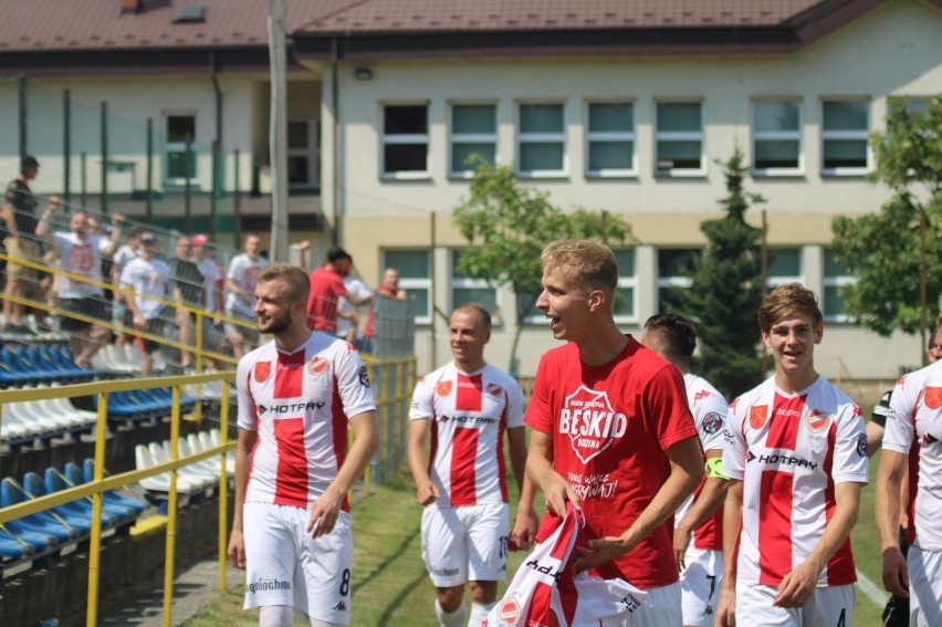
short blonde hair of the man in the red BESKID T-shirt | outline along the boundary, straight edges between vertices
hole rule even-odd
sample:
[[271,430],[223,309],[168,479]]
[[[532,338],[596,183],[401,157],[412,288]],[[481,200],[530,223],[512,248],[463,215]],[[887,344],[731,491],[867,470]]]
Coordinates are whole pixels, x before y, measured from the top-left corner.
[[557,240],[540,258],[543,272],[566,268],[568,279],[588,294],[601,290],[609,305],[618,286],[618,262],[611,249],[592,240]]

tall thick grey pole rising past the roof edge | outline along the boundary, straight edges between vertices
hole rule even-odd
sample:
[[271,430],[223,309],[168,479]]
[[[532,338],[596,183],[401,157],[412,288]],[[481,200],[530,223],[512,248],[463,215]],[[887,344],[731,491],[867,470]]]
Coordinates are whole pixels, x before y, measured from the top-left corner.
[[271,112],[269,145],[272,170],[272,261],[287,261],[287,82],[285,80],[284,0],[269,0]]

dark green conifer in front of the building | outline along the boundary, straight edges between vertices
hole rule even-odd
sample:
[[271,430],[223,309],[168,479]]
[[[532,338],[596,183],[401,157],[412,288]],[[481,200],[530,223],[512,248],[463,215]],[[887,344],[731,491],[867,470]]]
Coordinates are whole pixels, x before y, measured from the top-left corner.
[[729,196],[719,201],[726,216],[700,224],[706,249],[693,262],[691,286],[679,294],[681,313],[697,324],[697,369],[728,398],[754,387],[764,375],[756,353],[756,312],[763,295],[756,251],[762,232],[745,222],[745,212],[765,199],[744,190],[749,166],[743,161],[739,146],[728,161],[716,161],[726,178]]

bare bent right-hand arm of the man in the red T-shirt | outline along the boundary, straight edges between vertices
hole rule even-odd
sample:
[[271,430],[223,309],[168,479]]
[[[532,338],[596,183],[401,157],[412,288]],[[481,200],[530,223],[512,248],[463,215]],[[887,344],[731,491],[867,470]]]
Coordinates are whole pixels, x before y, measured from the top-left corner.
[[621,535],[589,541],[589,547],[594,551],[579,562],[578,571],[595,568],[635,548],[655,527],[673,515],[683,500],[700,484],[703,479],[703,457],[700,454],[700,439],[697,436],[674,442],[664,454],[670,463],[670,474],[655,498]]

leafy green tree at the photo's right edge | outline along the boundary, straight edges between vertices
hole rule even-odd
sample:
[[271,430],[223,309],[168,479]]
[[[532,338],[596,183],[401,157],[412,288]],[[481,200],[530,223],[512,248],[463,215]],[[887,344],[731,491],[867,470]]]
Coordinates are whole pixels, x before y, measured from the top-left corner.
[[[886,133],[873,133],[872,180],[893,191],[878,213],[835,218],[834,254],[857,282],[841,289],[848,314],[880,335],[921,331],[928,296],[942,293],[942,96],[924,113],[892,103]],[[922,353],[922,351],[920,351]]]

